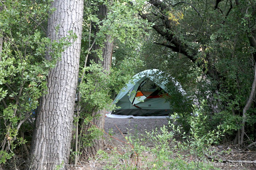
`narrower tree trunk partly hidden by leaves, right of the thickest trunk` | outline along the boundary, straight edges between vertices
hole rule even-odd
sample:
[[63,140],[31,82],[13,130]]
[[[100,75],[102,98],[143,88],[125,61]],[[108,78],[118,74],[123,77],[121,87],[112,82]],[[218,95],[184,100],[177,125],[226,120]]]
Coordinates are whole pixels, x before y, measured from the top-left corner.
[[[107,15],[107,9],[105,5],[99,5],[99,11],[97,11],[97,15],[100,19],[105,18]],[[98,27],[96,26],[95,29],[93,29],[93,32],[96,34],[98,32]],[[94,45],[93,47],[94,50],[100,49],[99,45]],[[93,60],[96,63],[101,62],[104,70],[110,71],[110,66],[111,66],[111,60],[112,60],[112,52],[113,52],[113,41],[111,41],[111,36],[107,35],[106,36],[106,41],[104,43],[104,48],[102,49],[102,57],[103,61],[101,62],[99,58],[95,55],[89,55],[88,61]],[[89,62],[88,62],[89,63]],[[85,127],[85,134],[89,134],[87,130],[91,128],[91,126],[94,124],[98,128],[103,129],[104,128],[104,118],[105,118],[105,110],[97,111],[92,113],[93,120],[91,123],[86,125]],[[99,139],[93,139],[93,145],[90,147],[86,147],[83,150],[83,156],[85,157],[94,157],[97,154],[97,151],[99,149],[102,149],[104,147],[104,140],[102,138]]]

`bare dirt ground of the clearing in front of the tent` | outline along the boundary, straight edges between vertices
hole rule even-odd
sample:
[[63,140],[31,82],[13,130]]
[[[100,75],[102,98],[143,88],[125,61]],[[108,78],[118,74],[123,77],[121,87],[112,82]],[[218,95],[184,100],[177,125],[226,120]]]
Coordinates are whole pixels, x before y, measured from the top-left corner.
[[[132,139],[142,137],[144,135],[145,137],[145,130],[150,132],[152,130],[155,130],[155,128],[160,128],[161,126],[168,126],[168,120],[167,119],[120,119],[120,118],[105,118],[105,126],[104,130],[107,133],[110,133],[112,137],[109,137],[109,135],[104,135],[105,137],[105,148],[104,151],[109,152],[109,159],[111,158],[111,151],[116,148],[120,153],[125,152],[126,145],[124,142],[127,142],[124,136],[130,135]],[[177,140],[182,140],[181,137],[175,136]],[[111,140],[110,140],[111,139]],[[123,142],[122,142],[123,141]],[[153,143],[145,142],[143,143],[143,146],[152,148],[154,146]],[[218,146],[212,146],[213,148],[217,148]],[[230,148],[230,154],[226,155],[225,158],[227,159],[243,159],[244,156],[248,156],[251,159],[256,159],[256,152],[250,151],[248,153],[241,153],[238,148],[229,146],[229,144],[222,145],[223,149]],[[177,154],[177,151],[173,151],[173,156]],[[187,152],[182,153],[184,157],[186,157],[186,154],[189,154]],[[155,156],[149,153],[148,151],[143,151],[142,155],[143,157],[147,158],[147,161],[154,161]],[[131,158],[132,159],[132,158]],[[188,157],[187,162],[189,162],[191,159],[195,159],[195,157],[191,156]],[[141,160],[143,158],[141,157]],[[211,162],[210,159],[206,159],[208,162],[206,164],[213,165],[215,168],[220,169],[230,169],[230,170],[244,170],[244,169],[256,169],[256,166],[253,164],[229,164],[229,163],[219,163],[219,162]],[[87,158],[81,158],[81,163],[79,163],[80,167],[70,167],[71,170],[80,169],[80,170],[99,170],[104,169],[103,167],[106,165],[106,162],[99,162],[98,158],[96,159],[90,159],[87,160]],[[122,162],[123,160],[120,160]],[[140,164],[145,164],[145,162],[140,162]],[[238,165],[238,166],[237,166]],[[118,167],[116,167],[118,169]]]

